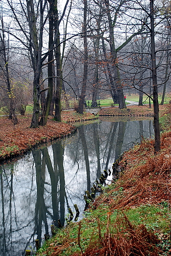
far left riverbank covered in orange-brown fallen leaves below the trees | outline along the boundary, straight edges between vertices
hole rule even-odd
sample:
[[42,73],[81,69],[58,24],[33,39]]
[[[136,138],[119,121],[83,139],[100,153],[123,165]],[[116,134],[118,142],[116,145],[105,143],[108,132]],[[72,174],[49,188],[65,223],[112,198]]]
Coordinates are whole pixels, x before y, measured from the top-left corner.
[[15,126],[7,117],[0,117],[0,160],[8,160],[11,157],[20,156],[41,143],[70,135],[75,130],[75,123],[82,123],[96,118],[90,113],[80,115],[75,111],[63,111],[61,123],[49,117],[46,126],[30,128],[30,115],[19,116],[19,124]]

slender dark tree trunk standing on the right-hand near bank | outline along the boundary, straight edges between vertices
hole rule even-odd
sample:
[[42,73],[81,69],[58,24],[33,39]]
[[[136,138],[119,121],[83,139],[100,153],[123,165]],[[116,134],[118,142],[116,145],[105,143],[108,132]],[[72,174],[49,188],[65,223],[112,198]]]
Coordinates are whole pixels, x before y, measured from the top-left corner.
[[151,64],[152,64],[152,87],[153,87],[153,108],[154,108],[154,154],[160,151],[160,128],[159,128],[159,103],[157,90],[156,53],[154,41],[154,2],[150,0],[150,36],[151,36]]

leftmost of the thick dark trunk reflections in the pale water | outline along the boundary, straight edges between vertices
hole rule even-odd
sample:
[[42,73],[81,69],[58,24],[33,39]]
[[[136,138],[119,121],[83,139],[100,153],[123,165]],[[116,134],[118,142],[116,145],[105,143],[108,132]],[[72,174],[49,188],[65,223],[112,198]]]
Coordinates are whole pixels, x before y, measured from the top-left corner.
[[37,184],[37,201],[35,205],[35,225],[37,232],[37,239],[41,241],[42,222],[45,224],[45,232],[48,235],[48,223],[46,212],[47,208],[44,199],[44,185],[45,185],[45,164],[41,160],[41,152],[39,150],[32,151],[33,159],[36,168],[36,184]]

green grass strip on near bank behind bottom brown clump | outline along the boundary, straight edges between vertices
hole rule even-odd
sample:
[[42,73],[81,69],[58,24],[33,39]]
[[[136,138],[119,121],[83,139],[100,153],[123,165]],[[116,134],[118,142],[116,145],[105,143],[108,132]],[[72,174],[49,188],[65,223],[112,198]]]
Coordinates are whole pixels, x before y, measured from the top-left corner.
[[[99,242],[99,227],[102,237],[105,235],[107,226],[111,233],[116,233],[121,227],[126,229],[127,223],[124,222],[124,216],[127,217],[135,230],[138,226],[144,224],[149,232],[153,231],[156,235],[169,235],[170,216],[168,214],[167,202],[158,205],[147,204],[133,209],[128,208],[124,211],[111,211],[108,204],[102,203],[96,210],[91,210],[90,208],[85,214],[85,219],[81,221],[80,245],[83,252],[89,246],[90,242],[96,244]],[[77,223],[70,223],[66,228],[57,229],[56,232],[55,237],[45,242],[39,250],[38,256],[44,255],[43,252],[48,249],[49,244],[55,247],[55,245],[65,243],[66,240],[69,246],[67,245],[63,252],[58,254],[59,256],[70,256],[75,252],[80,253]]]

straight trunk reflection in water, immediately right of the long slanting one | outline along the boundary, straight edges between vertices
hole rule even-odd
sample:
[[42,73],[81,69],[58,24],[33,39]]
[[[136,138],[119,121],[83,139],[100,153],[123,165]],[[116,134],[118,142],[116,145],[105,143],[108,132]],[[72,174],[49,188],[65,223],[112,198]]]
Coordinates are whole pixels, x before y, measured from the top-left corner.
[[93,133],[94,133],[94,143],[95,143],[95,150],[96,150],[96,155],[98,159],[98,170],[97,170],[97,179],[100,177],[100,143],[99,143],[99,136],[98,136],[98,124],[94,124],[93,126]]

